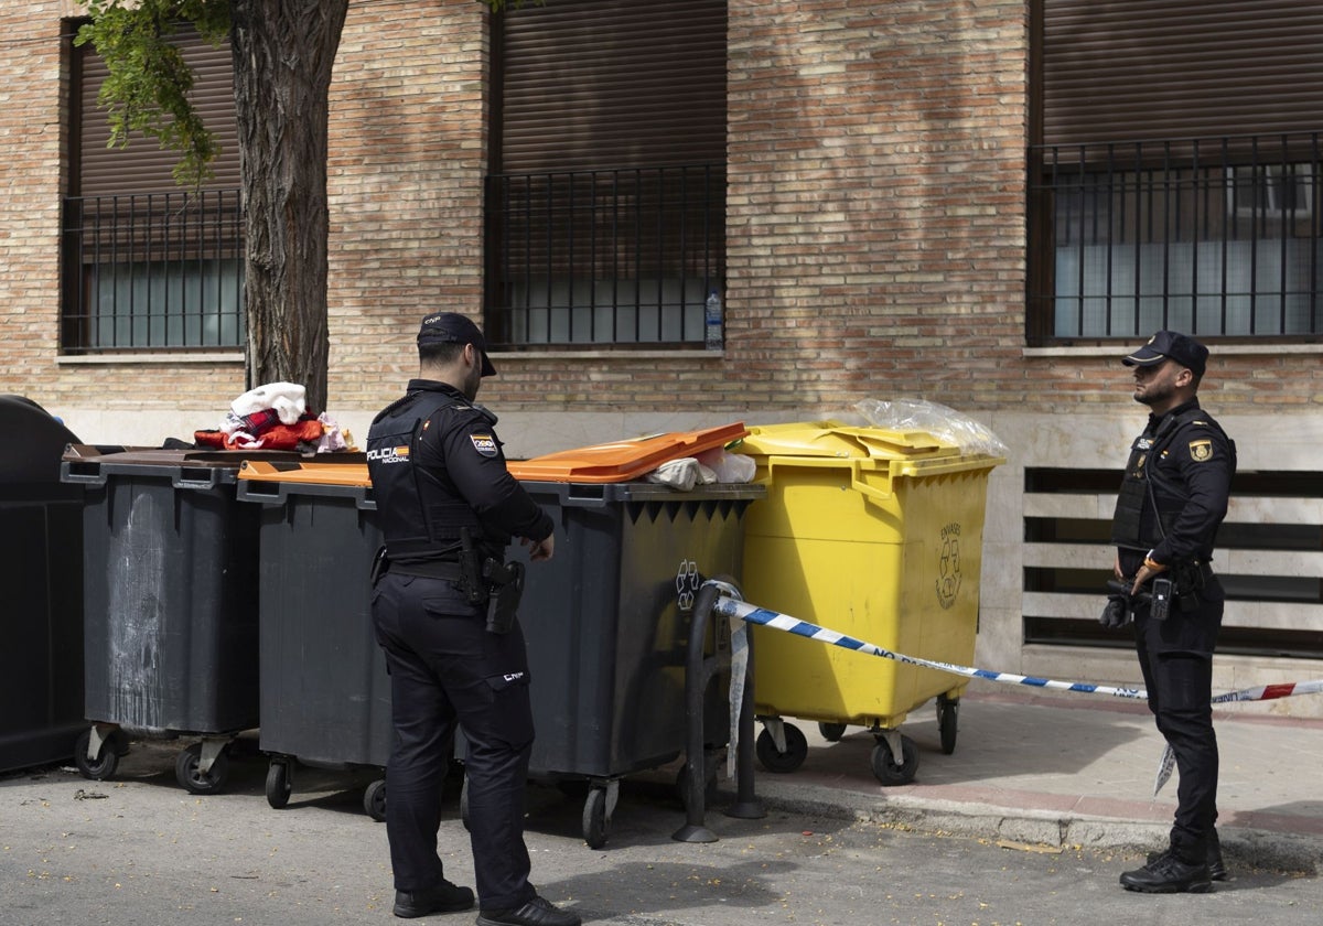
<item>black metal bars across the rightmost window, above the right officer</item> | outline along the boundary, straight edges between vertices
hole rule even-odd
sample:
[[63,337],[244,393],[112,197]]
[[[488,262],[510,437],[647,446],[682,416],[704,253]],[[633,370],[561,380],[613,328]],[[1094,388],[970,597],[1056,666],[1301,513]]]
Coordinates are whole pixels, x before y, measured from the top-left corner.
[[1319,134],[1029,153],[1032,340],[1323,333]]

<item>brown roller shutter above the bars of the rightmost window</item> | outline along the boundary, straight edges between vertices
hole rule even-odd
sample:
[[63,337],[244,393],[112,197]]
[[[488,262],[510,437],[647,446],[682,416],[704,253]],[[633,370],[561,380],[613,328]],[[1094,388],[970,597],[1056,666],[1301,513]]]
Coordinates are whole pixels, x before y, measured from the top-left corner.
[[1045,144],[1323,127],[1323,4],[1041,3]]

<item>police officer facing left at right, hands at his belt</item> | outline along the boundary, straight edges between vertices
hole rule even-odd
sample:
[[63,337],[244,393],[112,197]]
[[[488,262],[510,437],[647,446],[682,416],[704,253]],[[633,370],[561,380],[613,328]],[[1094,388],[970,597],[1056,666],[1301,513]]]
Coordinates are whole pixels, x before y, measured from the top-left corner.
[[1175,824],[1166,852],[1121,876],[1129,890],[1209,890],[1226,877],[1217,831],[1217,737],[1212,665],[1225,594],[1212,570],[1213,541],[1226,516],[1236,444],[1199,406],[1208,348],[1159,331],[1125,357],[1148,425],[1130,448],[1111,540],[1118,594],[1102,622],[1134,619],[1148,709],[1176,757]]

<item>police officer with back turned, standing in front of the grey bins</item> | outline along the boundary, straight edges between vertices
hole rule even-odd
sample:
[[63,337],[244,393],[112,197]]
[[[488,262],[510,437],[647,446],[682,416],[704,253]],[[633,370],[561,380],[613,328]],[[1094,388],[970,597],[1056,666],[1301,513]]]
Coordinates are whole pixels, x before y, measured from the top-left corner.
[[468,910],[474,892],[437,856],[441,784],[455,725],[467,743],[468,828],[479,926],[578,926],[529,884],[524,794],[533,743],[528,656],[513,607],[512,537],[549,560],[552,519],[505,468],[496,417],[474,405],[496,373],[478,327],[454,312],[418,331],[419,372],[368,433],[385,545],[372,619],[390,671],[394,743],[386,833],[397,917]]

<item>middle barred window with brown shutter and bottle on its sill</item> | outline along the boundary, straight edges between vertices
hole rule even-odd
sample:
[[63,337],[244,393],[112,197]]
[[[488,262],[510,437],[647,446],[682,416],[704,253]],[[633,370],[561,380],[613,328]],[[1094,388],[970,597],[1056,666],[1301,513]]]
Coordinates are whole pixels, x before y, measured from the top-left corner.
[[497,17],[490,344],[703,345],[725,278],[725,29],[720,0]]

